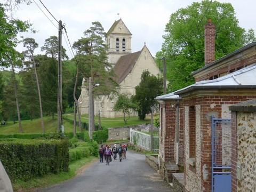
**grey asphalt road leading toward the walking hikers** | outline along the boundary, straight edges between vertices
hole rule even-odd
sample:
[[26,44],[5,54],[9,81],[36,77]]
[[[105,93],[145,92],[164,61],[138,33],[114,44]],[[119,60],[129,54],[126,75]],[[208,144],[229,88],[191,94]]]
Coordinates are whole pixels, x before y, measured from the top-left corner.
[[76,178],[39,191],[171,192],[172,190],[163,181],[161,175],[145,162],[145,155],[128,150],[126,159],[123,159],[122,162],[112,160],[110,165],[106,165],[106,161],[95,162]]

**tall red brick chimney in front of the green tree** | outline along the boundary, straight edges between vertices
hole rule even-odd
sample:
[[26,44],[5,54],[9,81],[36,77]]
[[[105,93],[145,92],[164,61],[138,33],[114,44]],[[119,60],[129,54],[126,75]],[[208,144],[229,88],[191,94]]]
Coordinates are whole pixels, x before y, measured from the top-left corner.
[[215,25],[211,19],[204,26],[204,62],[205,65],[215,61]]

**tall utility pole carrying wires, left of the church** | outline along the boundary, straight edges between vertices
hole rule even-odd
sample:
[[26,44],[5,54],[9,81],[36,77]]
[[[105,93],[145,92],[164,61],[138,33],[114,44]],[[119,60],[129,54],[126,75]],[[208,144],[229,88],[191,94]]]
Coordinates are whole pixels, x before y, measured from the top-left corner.
[[61,63],[61,56],[62,56],[62,45],[61,45],[61,38],[62,38],[62,21],[59,20],[59,52],[58,52],[58,133],[62,131],[64,132],[64,126],[62,125],[62,63]]

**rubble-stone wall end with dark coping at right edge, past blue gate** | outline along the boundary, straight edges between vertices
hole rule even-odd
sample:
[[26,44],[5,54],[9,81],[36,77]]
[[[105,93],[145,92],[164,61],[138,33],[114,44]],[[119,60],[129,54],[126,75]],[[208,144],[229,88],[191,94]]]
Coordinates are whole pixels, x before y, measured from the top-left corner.
[[[256,191],[256,100],[231,106],[231,191]],[[237,177],[237,163],[241,178]]]

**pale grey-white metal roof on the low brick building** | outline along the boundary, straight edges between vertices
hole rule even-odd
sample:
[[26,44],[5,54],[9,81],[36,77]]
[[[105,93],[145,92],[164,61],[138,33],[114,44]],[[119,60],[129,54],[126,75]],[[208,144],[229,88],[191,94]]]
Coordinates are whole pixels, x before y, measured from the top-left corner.
[[256,86],[256,63],[217,79],[196,82],[173,93],[181,94],[194,89],[227,89],[231,87],[237,89],[242,86]]

